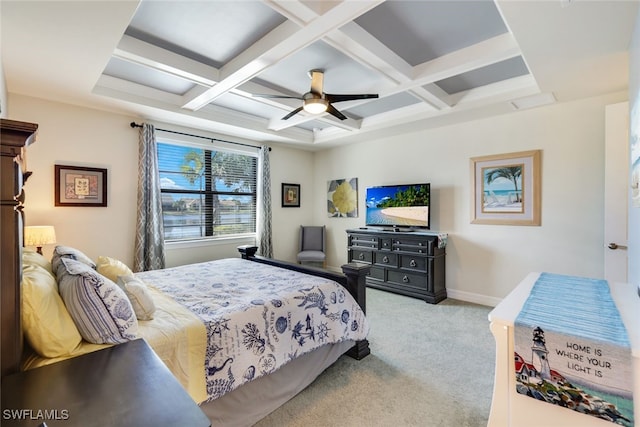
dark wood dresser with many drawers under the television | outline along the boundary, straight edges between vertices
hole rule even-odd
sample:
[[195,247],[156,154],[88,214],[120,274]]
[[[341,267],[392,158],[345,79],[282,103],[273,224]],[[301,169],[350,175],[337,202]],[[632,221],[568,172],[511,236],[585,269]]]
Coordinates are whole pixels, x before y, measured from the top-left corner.
[[371,265],[368,287],[436,304],[447,297],[442,234],[347,230],[348,260]]

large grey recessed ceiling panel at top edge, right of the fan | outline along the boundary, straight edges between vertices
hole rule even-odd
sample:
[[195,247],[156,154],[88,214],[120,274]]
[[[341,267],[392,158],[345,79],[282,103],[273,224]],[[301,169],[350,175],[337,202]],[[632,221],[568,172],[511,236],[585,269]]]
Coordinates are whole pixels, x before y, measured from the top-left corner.
[[492,0],[386,1],[355,22],[412,66],[508,31]]

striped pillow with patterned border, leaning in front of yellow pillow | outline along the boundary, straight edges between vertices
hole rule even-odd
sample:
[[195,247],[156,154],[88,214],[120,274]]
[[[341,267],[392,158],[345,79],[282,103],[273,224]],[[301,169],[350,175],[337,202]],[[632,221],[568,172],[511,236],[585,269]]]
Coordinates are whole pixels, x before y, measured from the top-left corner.
[[94,344],[135,339],[138,320],[124,291],[85,263],[71,258],[60,261],[60,296],[82,338]]

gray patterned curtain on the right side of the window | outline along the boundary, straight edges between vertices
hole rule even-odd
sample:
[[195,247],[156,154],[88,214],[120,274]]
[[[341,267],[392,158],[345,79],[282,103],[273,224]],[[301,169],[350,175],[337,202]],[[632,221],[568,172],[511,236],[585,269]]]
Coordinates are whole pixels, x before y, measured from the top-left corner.
[[263,145],[258,155],[258,253],[273,258],[271,242],[271,169],[269,147]]

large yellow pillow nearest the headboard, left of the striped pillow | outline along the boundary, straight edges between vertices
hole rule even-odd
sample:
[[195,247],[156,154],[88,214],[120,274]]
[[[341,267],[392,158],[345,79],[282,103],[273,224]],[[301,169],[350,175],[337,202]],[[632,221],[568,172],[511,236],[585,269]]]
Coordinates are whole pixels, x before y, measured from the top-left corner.
[[67,355],[82,341],[56,279],[39,265],[22,269],[22,324],[31,347],[43,357]]

